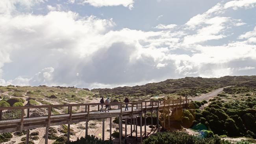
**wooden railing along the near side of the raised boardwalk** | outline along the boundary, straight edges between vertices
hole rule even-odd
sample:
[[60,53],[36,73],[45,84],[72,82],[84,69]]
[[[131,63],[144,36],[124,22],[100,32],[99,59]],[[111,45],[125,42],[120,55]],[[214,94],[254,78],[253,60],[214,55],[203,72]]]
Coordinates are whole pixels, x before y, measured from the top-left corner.
[[[177,107],[185,107],[186,103],[191,102],[191,99],[177,99],[177,100],[158,100],[158,101],[135,101],[128,103],[129,113],[139,111],[141,109],[150,109],[150,107],[172,105]],[[0,123],[15,122],[24,119],[40,119],[58,116],[67,116],[69,114],[97,114],[103,106],[105,110],[106,103],[82,103],[82,104],[65,104],[65,105],[35,105],[23,107],[0,107]],[[109,103],[109,113],[124,113],[121,107],[124,108],[126,103],[113,102]]]

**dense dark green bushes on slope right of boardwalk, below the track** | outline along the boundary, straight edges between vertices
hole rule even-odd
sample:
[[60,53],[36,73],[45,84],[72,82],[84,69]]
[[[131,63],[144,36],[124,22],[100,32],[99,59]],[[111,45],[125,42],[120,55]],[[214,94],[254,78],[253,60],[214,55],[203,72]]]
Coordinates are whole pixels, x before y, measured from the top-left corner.
[[182,125],[198,131],[208,129],[217,135],[256,138],[256,90],[254,87],[228,87],[210,100],[202,111],[193,102],[184,111]]

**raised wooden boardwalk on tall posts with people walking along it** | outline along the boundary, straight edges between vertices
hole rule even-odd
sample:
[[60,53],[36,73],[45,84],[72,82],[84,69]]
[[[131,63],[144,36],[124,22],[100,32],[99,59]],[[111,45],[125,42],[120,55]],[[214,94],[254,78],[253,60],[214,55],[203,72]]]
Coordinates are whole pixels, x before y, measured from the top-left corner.
[[[122,120],[127,123],[127,118],[136,119],[133,122],[137,126],[137,117],[140,118],[140,139],[142,142],[142,115],[147,112],[157,114],[157,128],[159,130],[158,111],[168,114],[168,125],[170,125],[170,114],[167,111],[185,109],[187,104],[191,102],[191,99],[187,100],[159,100],[159,101],[136,101],[130,103],[115,102],[110,103],[109,111],[101,112],[101,103],[82,103],[82,104],[67,104],[67,105],[37,105],[37,106],[24,106],[24,107],[0,107],[0,133],[14,132],[27,130],[26,143],[28,144],[29,129],[35,129],[39,127],[46,127],[46,139],[45,144],[48,143],[48,129],[50,126],[58,126],[68,124],[68,141],[69,141],[69,127],[72,123],[86,122],[85,135],[88,133],[89,120],[103,119],[103,131],[102,139],[104,140],[104,119],[118,117],[119,118],[119,140],[121,143],[122,138]],[[128,104],[128,111],[125,111],[125,106]],[[125,124],[126,124],[125,123]],[[151,120],[152,123],[152,120]],[[145,116],[146,124],[146,116]],[[132,125],[132,123],[131,123]],[[126,126],[126,125],[125,125]],[[153,123],[152,123],[153,126]],[[165,120],[164,120],[165,126]],[[109,127],[110,140],[111,140],[111,122]],[[126,129],[125,129],[126,131]],[[146,131],[146,125],[145,125]],[[146,135],[146,134],[145,134]],[[126,139],[125,135],[125,139]],[[137,128],[136,128],[137,139]]]

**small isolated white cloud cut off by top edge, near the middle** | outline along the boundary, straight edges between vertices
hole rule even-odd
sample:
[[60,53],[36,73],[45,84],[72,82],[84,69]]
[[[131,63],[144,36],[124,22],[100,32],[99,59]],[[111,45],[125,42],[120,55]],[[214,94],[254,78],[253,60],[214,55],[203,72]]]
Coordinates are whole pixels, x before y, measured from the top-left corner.
[[132,9],[134,6],[134,0],[84,0],[84,4],[90,4],[95,7],[103,6],[124,6]]

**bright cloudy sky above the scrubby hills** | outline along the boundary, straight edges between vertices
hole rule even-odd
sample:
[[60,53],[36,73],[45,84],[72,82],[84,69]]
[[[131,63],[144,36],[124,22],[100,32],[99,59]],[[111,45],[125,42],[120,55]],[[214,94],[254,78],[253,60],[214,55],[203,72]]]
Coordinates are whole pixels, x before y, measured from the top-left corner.
[[0,0],[0,85],[256,74],[256,0]]

